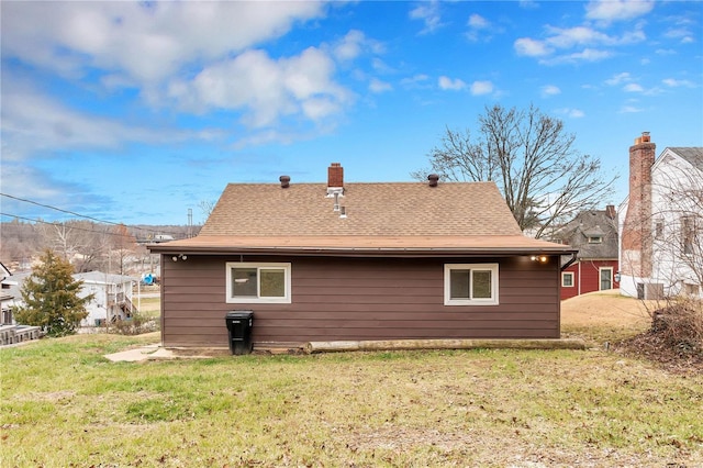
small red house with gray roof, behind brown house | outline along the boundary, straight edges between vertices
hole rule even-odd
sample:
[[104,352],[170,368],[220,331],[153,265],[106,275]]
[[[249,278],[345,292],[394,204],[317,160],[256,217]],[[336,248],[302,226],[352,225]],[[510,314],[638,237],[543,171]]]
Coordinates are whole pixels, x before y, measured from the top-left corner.
[[614,205],[579,213],[557,230],[553,239],[579,250],[577,260],[561,271],[561,300],[620,287]]

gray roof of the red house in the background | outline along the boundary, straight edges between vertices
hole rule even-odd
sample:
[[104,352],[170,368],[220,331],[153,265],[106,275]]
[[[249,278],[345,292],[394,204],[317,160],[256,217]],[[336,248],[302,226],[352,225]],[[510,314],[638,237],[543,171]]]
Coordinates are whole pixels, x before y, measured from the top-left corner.
[[[602,237],[601,243],[590,243],[589,237]],[[617,259],[617,219],[606,210],[582,211],[555,233],[555,238],[578,248],[577,258]]]

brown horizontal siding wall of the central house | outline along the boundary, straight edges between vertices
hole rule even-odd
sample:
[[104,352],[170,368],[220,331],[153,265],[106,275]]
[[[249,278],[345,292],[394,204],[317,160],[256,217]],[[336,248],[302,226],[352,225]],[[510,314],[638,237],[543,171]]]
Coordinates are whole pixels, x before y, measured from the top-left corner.
[[[253,258],[290,261],[292,303],[228,304],[225,263],[241,258],[163,258],[165,346],[227,346],[224,316],[254,311],[254,341],[305,343],[392,338],[559,336],[557,258]],[[500,264],[500,305],[444,305],[445,263]]]

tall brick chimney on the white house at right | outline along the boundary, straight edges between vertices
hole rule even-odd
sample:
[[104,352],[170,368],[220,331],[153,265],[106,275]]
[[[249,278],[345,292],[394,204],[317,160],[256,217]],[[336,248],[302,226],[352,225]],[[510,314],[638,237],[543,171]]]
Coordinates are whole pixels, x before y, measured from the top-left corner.
[[629,201],[623,224],[622,265],[624,275],[651,276],[651,166],[657,145],[643,132],[629,147]]

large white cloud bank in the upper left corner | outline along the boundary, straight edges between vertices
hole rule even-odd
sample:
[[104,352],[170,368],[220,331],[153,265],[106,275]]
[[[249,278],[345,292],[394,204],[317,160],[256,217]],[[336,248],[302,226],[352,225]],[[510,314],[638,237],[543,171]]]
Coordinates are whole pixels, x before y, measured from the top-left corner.
[[[201,60],[280,37],[319,18],[316,2],[8,2],[3,54],[60,73],[99,69],[157,85]],[[29,20],[31,19],[31,21]]]

